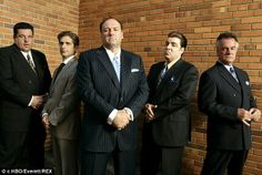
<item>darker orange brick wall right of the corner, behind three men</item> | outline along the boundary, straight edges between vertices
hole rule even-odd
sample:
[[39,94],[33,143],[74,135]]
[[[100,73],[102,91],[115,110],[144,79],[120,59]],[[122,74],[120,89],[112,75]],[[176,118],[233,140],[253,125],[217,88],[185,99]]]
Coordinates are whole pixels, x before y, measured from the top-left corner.
[[[100,0],[80,2],[79,34],[82,50],[100,47],[99,22],[115,17],[123,22],[123,48],[142,55],[147,72],[163,60],[165,35],[178,30],[189,39],[184,59],[202,73],[216,60],[214,42],[220,32],[233,31],[240,40],[236,65],[249,72],[262,110],[261,0]],[[183,174],[200,174],[205,155],[206,117],[192,103],[192,142],[183,158]],[[253,148],[245,174],[262,174],[262,120],[252,125]]]

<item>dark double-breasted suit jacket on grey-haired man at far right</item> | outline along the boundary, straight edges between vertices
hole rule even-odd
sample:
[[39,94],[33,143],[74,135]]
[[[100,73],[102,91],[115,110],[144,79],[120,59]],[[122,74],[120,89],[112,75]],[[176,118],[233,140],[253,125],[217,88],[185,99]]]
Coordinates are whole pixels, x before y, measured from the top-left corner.
[[208,148],[241,151],[251,147],[251,127],[238,109],[255,107],[246,72],[234,66],[239,83],[220,62],[201,75],[199,109],[208,115]]

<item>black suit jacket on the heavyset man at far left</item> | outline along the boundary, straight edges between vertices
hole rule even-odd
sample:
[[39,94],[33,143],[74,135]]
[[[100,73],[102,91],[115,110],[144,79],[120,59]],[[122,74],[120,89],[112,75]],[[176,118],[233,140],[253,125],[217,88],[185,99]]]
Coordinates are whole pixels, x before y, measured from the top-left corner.
[[48,92],[51,74],[43,53],[31,50],[37,74],[16,44],[0,49],[0,127],[27,132],[41,124],[40,110],[28,104],[32,95]]

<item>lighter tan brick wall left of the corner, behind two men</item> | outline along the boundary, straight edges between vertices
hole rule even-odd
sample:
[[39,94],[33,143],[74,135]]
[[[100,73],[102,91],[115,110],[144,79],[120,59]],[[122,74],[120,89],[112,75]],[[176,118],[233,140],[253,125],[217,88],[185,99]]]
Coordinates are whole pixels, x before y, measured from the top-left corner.
[[[20,21],[33,24],[33,48],[46,53],[52,73],[61,61],[57,34],[78,32],[79,0],[0,0],[0,47],[13,43],[12,28]],[[48,135],[46,148],[50,146]]]

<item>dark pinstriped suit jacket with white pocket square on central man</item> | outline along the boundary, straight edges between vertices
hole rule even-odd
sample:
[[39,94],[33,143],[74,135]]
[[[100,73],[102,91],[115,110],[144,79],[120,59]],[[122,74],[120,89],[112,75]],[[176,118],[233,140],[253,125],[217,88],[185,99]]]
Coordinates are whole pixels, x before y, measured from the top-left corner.
[[[83,100],[83,150],[111,152],[137,146],[137,117],[148,99],[148,83],[139,55],[121,50],[121,83],[103,47],[80,54],[78,89]],[[129,107],[134,121],[118,131],[107,123],[113,109]]]

